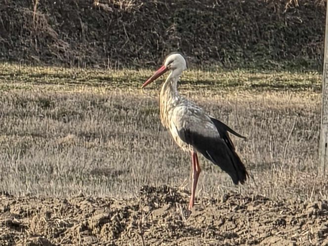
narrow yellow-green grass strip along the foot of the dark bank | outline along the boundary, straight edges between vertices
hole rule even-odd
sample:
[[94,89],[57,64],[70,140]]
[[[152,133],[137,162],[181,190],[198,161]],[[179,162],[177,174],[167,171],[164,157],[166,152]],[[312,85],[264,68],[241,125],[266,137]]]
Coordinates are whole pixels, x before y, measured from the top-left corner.
[[[97,70],[64,69],[58,67],[29,67],[8,63],[0,64],[0,90],[28,89],[38,85],[52,90],[76,90],[78,87],[139,88],[154,70]],[[161,83],[165,79],[159,79]],[[180,86],[186,89],[210,90],[321,90],[321,74],[317,72],[275,72],[254,70],[211,71],[188,70],[181,76]],[[158,89],[157,86],[149,86]]]

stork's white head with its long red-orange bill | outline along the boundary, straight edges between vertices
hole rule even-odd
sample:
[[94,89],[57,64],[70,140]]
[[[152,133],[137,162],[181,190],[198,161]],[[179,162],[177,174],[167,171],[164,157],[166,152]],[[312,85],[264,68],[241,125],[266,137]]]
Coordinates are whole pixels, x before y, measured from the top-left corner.
[[155,81],[157,78],[159,78],[168,70],[172,71],[172,75],[180,76],[182,71],[186,69],[187,69],[187,64],[183,56],[178,52],[171,53],[164,60],[164,65],[160,67],[152,77],[150,77],[146,82],[144,82],[141,88]]

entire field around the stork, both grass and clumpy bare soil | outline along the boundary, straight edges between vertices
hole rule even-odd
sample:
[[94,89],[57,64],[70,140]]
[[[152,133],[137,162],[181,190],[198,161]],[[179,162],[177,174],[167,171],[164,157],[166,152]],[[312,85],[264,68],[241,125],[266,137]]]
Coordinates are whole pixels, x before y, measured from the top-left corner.
[[160,123],[161,82],[140,89],[152,72],[0,65],[0,245],[328,245],[320,74],[183,75],[247,137],[232,136],[253,177],[235,186],[201,158],[186,218],[190,157]]

